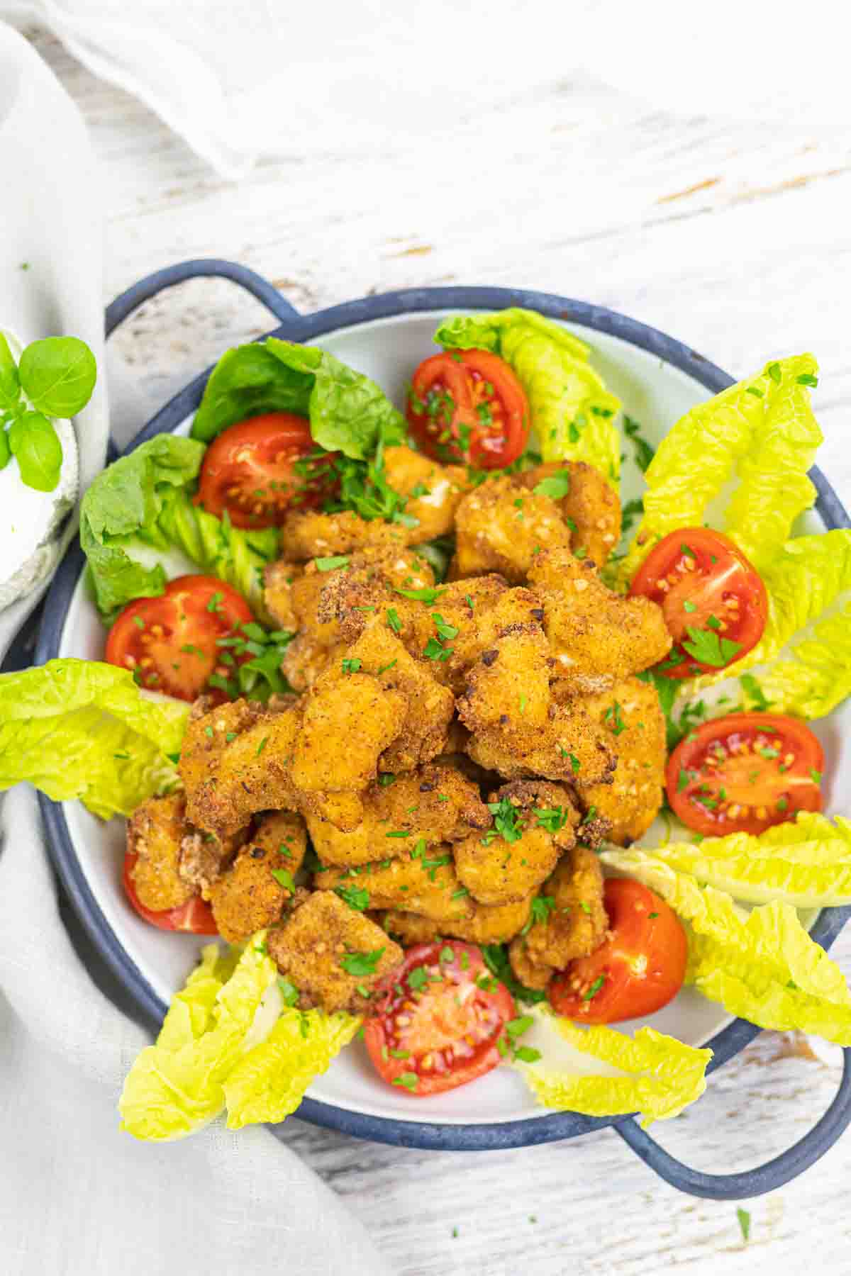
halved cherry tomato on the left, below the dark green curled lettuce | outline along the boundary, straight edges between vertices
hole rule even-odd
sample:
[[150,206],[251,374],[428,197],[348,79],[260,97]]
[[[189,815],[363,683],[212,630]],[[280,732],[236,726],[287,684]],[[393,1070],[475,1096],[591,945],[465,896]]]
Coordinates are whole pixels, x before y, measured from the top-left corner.
[[[254,620],[245,598],[214,575],[179,575],[158,598],[137,598],[119,615],[106,639],[106,660],[131,669],[140,686],[194,701],[211,674],[227,678],[219,638]],[[235,657],[239,662],[250,655]]]

